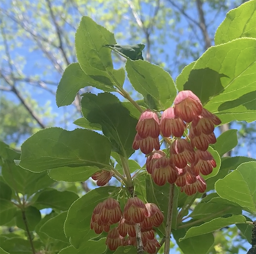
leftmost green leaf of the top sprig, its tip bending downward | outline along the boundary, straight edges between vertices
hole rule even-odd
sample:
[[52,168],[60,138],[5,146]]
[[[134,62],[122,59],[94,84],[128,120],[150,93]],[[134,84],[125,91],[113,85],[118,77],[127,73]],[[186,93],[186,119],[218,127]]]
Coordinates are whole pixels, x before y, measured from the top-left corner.
[[65,69],[56,92],[56,104],[58,107],[70,105],[80,89],[85,86],[93,86],[103,91],[113,92],[116,89],[104,80],[96,80],[87,75],[78,63],[68,65]]

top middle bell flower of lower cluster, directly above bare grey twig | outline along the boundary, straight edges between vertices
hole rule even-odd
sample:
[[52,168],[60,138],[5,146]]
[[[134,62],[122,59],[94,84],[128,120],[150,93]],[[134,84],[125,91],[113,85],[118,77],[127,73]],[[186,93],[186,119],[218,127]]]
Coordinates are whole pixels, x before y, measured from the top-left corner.
[[135,223],[141,223],[148,216],[148,210],[140,198],[128,198],[123,215],[129,224],[134,225]]

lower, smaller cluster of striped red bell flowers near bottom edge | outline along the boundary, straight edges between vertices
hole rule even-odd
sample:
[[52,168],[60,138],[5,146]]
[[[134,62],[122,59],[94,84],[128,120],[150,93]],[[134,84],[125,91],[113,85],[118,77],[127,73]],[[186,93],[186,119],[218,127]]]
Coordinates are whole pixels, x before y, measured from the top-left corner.
[[[153,227],[159,227],[163,220],[162,212],[153,203],[144,204],[138,197],[129,198],[122,213],[119,202],[108,198],[94,208],[91,229],[96,234],[108,232],[106,244],[110,250],[116,250],[119,246],[137,245],[135,224],[140,224],[144,250],[153,254],[161,247]],[[118,225],[110,229],[116,223]]]

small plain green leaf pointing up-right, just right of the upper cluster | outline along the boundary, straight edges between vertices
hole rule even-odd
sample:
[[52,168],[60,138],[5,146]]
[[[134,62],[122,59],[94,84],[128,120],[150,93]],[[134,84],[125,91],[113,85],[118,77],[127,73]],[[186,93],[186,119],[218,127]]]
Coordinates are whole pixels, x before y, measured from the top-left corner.
[[220,154],[220,157],[223,156],[224,153],[232,150],[238,143],[237,141],[237,130],[228,130],[217,138],[217,142],[213,146],[213,148]]

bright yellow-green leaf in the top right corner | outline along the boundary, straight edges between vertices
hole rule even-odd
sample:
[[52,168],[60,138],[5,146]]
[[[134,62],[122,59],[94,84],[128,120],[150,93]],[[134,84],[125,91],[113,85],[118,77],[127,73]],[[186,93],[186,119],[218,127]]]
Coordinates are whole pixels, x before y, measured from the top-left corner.
[[221,44],[241,37],[256,38],[256,2],[248,1],[228,11],[218,27],[214,41]]

